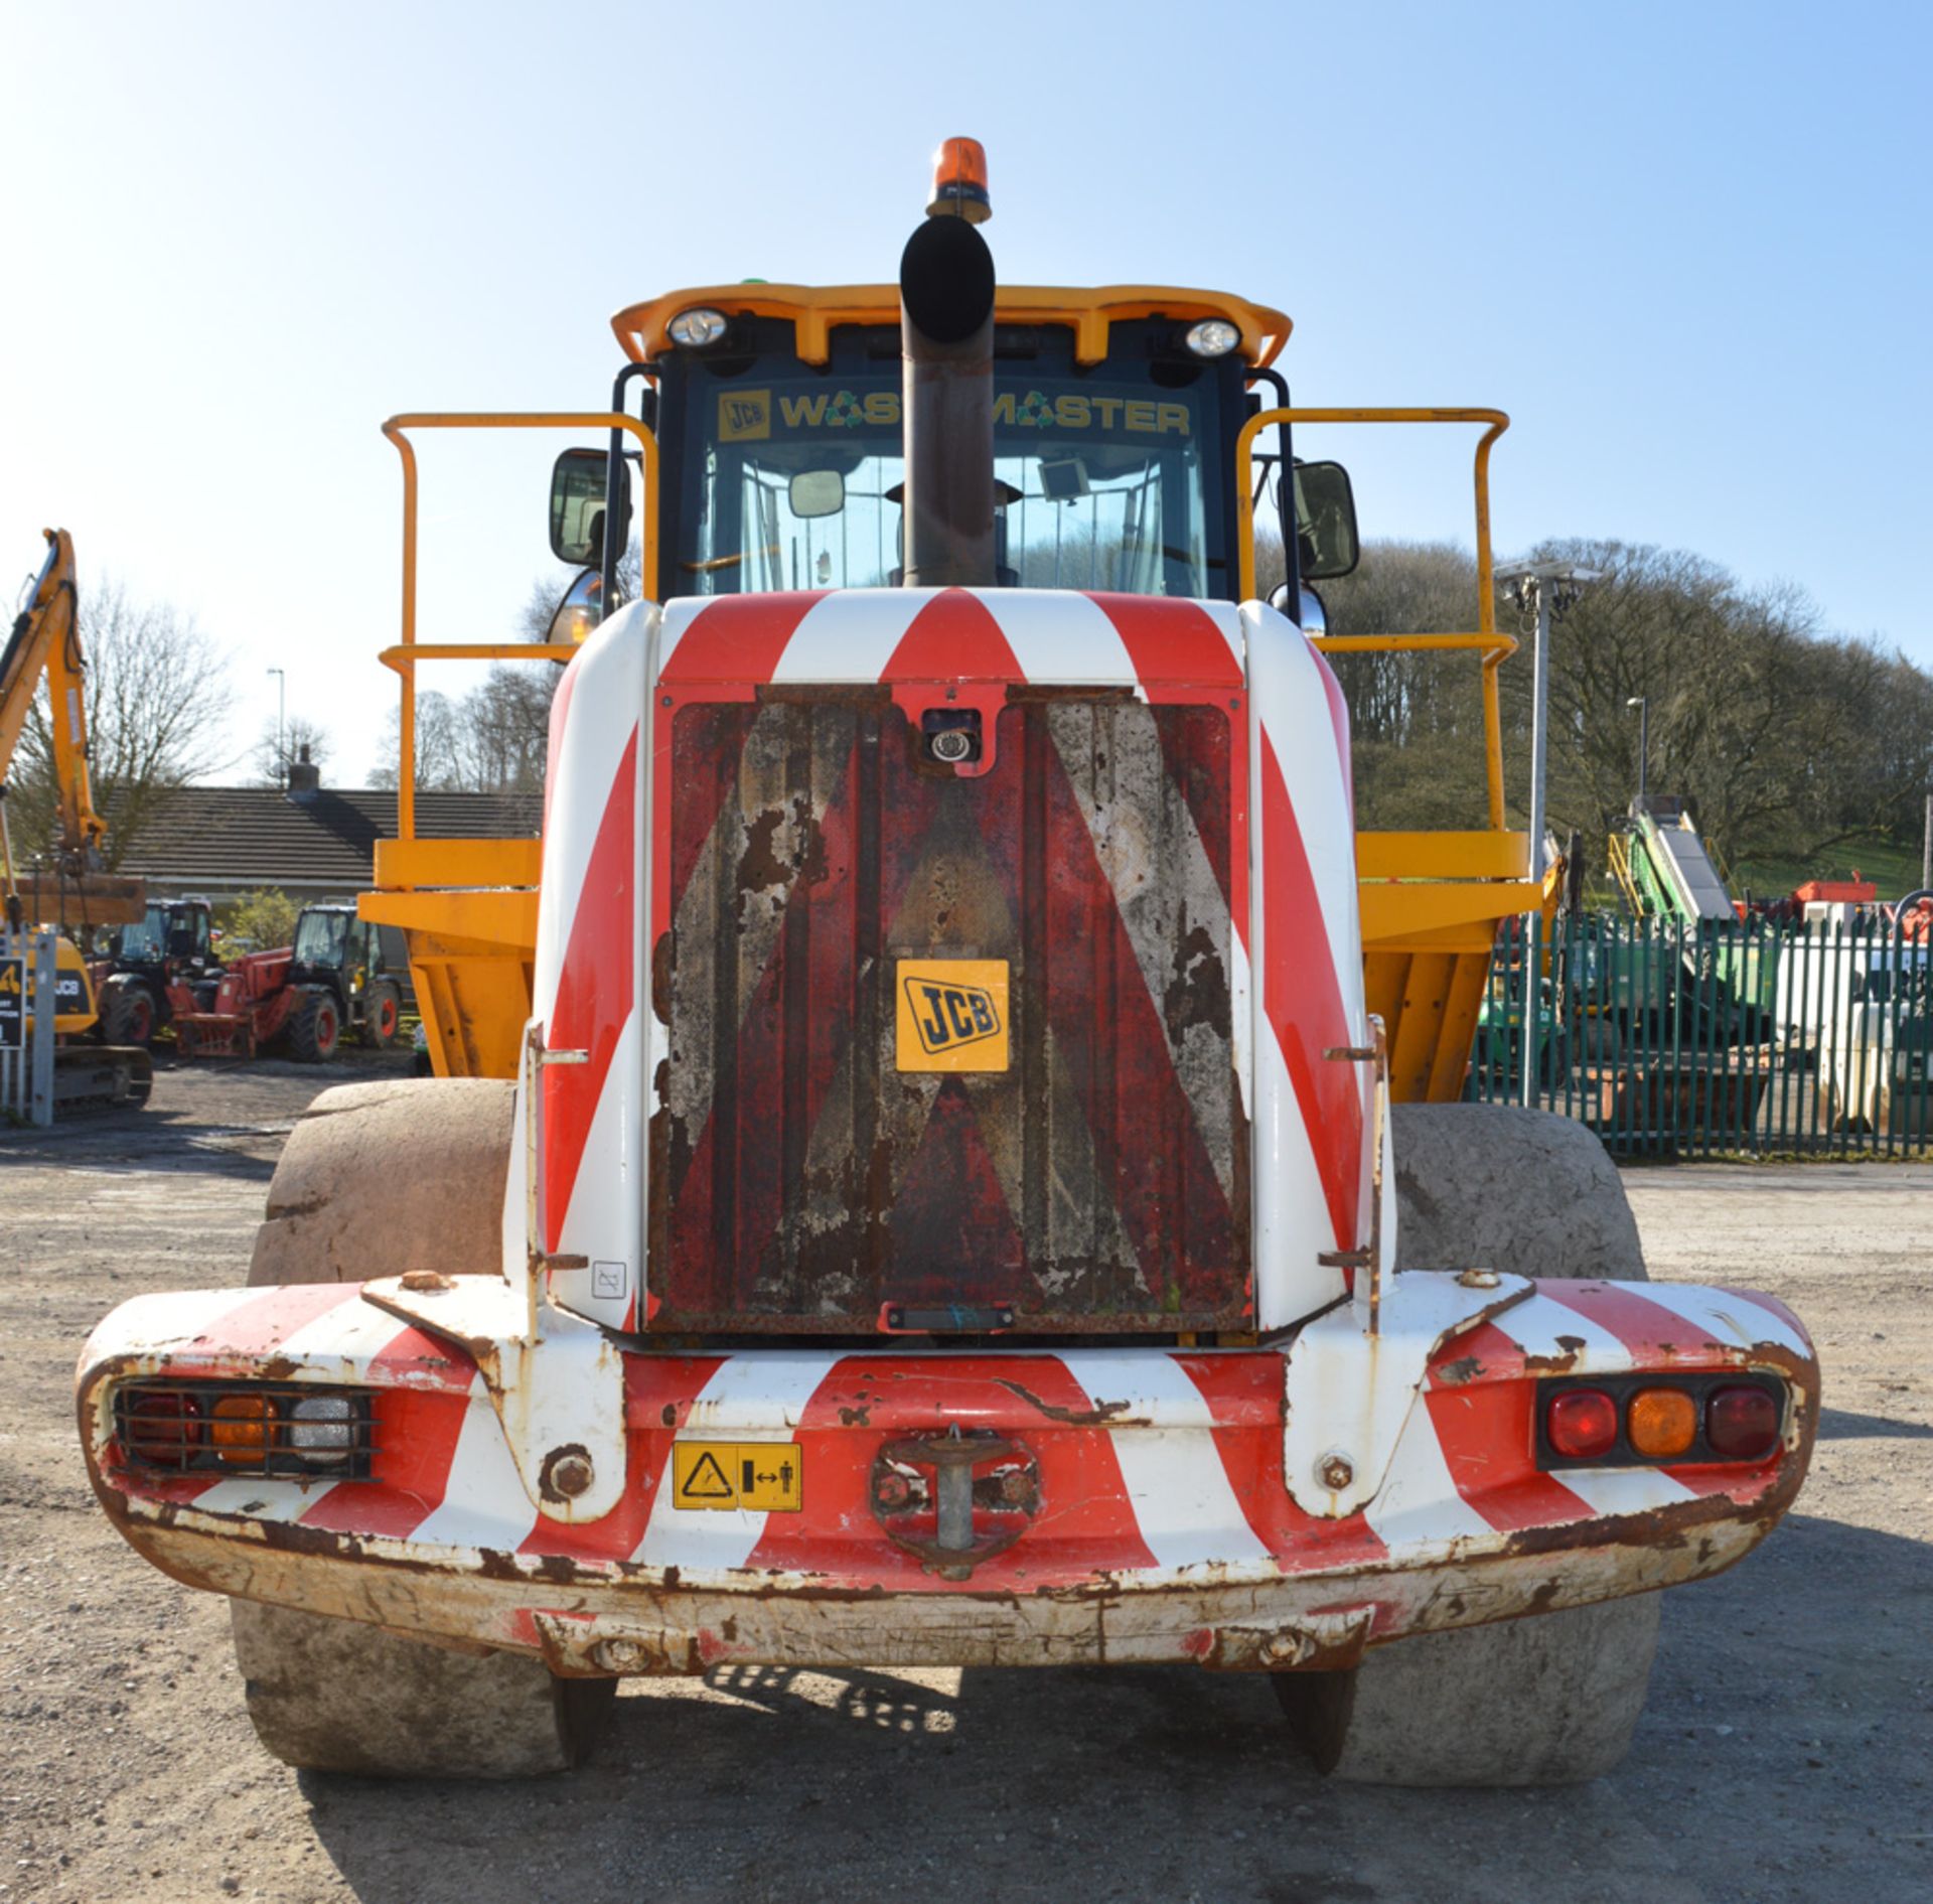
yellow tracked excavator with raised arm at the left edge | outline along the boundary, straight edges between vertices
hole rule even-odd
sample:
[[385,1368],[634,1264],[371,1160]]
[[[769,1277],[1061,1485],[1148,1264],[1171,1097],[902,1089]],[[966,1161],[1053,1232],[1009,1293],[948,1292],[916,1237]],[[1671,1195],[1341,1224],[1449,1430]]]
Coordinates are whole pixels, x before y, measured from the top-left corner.
[[[19,615],[0,653],[0,905],[6,932],[54,928],[54,1108],[141,1104],[155,1077],[139,1046],[102,1044],[97,1036],[93,978],[73,934],[143,918],[143,881],[106,874],[101,847],[106,822],[95,812],[87,771],[87,661],[81,653],[73,539],[46,530],[46,555],[27,586]],[[21,872],[8,823],[8,775],[35,692],[46,678],[58,833],[46,854]],[[31,963],[29,963],[31,970]],[[29,994],[31,1003],[31,994]],[[33,1013],[27,1013],[33,1024]],[[31,1036],[31,1030],[29,1030]]]

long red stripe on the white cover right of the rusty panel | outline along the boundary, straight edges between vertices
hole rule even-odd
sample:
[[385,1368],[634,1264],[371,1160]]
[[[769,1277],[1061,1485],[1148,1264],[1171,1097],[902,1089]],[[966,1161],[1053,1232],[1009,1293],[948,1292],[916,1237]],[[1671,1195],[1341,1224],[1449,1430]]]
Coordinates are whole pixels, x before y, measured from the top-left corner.
[[1276,748],[1262,733],[1262,1011],[1295,1086],[1340,1249],[1355,1247],[1363,1198],[1359,1065],[1324,1057],[1353,1044],[1336,949]]

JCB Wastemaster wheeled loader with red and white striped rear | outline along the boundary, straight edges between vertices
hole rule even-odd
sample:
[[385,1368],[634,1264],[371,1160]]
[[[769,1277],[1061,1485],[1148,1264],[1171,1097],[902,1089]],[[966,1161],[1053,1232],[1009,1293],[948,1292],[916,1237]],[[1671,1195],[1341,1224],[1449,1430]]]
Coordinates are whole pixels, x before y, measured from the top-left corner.
[[[628,1674],[1195,1662],[1330,1771],[1575,1780],[1657,1589],[1800,1486],[1800,1324],[1645,1284],[1589,1133],[1454,1102],[1537,891],[1504,418],[1295,410],[1278,311],[995,286],[986,211],[949,141],[897,286],[655,298],[609,412],[389,425],[361,905],[439,1075],[319,1098],[249,1287],[128,1303],[79,1370],[104,1508],[234,1597],[294,1765],[564,1767]],[[1471,632],[1320,634],[1328,421],[1483,425]],[[605,601],[642,495],[642,599],[537,649],[541,858],[414,827],[418,671],[479,649],[416,640],[412,431],[483,423],[613,433],[551,510]],[[1415,646],[1483,669],[1488,825],[1359,835],[1326,657]]]

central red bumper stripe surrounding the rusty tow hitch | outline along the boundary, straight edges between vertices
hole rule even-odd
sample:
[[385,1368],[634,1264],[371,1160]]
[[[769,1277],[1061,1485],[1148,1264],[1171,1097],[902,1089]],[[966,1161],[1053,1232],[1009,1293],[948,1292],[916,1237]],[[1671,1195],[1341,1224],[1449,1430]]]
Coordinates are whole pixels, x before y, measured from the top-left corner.
[[[746,1560],[752,1572],[785,1568],[822,1573],[845,1587],[922,1593],[1026,1591],[1088,1581],[1096,1573],[1152,1568],[1135,1506],[1106,1428],[1065,1427],[1003,1382],[1050,1409],[1092,1409],[1086,1390],[1055,1357],[930,1357],[835,1363],[800,1417],[794,1440],[804,1463],[802,1514],[773,1514]],[[876,1417],[872,1411],[881,1407]],[[872,1512],[872,1463],[891,1419],[924,1432],[955,1421],[999,1423],[1040,1463],[1042,1510],[1005,1552],[974,1568],[968,1581],[939,1581],[918,1554],[897,1546]],[[864,1425],[862,1425],[864,1423]],[[1280,1436],[1278,1436],[1280,1442]]]

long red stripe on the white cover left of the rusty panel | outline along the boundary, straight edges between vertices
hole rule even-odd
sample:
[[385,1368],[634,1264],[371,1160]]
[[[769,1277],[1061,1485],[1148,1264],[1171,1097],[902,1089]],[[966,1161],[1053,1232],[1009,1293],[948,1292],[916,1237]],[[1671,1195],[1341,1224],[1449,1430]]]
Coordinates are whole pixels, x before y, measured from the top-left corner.
[[[597,1098],[603,1094],[619,1034],[632,1007],[636,870],[638,731],[632,729],[619,762],[611,798],[605,800],[597,837],[584,868],[584,889],[570,920],[557,1003],[545,1026],[553,1052],[590,1052],[584,1065],[549,1065],[543,1071],[543,1233],[555,1251],[570,1208],[570,1193],[584,1162]],[[563,895],[551,895],[561,899]]]

